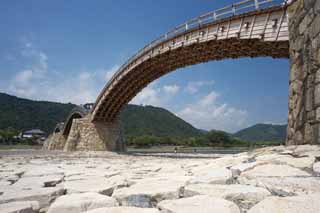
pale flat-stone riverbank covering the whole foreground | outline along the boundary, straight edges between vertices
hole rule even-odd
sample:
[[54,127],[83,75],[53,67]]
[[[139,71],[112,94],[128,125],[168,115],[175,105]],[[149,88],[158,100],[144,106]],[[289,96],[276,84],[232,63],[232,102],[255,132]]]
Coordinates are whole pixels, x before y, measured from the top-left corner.
[[319,146],[220,158],[28,150],[0,155],[1,212],[320,212]]

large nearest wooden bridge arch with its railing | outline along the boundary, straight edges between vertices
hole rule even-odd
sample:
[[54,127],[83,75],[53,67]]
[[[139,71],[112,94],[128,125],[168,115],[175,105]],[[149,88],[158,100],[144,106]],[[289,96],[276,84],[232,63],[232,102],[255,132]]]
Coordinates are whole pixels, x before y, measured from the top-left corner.
[[[113,122],[149,83],[178,68],[227,58],[289,58],[286,5],[235,15],[248,2],[259,1],[247,0],[200,16],[139,51],[102,90],[92,109],[92,121]],[[262,1],[263,5],[266,2],[273,1]],[[231,16],[225,17],[230,11]],[[219,15],[222,18],[217,19]]]

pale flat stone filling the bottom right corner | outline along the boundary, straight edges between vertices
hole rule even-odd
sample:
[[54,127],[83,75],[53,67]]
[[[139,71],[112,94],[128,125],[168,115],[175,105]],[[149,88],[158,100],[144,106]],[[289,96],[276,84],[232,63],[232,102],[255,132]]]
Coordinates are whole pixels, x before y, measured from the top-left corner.
[[268,197],[252,207],[248,213],[319,213],[320,194],[294,197]]

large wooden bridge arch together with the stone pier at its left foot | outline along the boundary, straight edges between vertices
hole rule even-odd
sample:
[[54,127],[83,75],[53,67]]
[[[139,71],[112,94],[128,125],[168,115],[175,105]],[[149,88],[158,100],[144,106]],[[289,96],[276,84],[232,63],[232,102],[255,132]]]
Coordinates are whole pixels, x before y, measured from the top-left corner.
[[149,83],[178,68],[227,58],[289,58],[287,8],[284,0],[245,0],[168,31],[119,68],[88,113],[74,111],[68,117],[60,148],[124,150],[121,109]]

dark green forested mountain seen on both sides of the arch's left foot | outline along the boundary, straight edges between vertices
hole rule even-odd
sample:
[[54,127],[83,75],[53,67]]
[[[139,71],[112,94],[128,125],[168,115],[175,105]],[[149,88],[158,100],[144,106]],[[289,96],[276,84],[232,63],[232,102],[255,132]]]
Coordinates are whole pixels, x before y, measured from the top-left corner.
[[[52,132],[58,122],[67,118],[73,107],[73,104],[32,101],[0,93],[0,129],[39,128]],[[152,106],[127,105],[121,113],[121,122],[126,136],[202,135],[202,131],[168,110]]]

